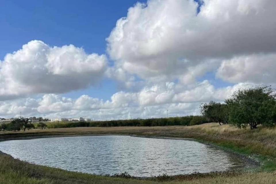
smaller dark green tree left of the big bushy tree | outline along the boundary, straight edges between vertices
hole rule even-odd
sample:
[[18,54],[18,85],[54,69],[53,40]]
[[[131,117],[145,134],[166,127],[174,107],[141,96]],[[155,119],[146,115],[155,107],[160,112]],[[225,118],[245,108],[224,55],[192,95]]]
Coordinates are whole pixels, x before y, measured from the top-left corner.
[[220,125],[228,122],[229,112],[226,104],[210,101],[201,105],[201,113],[209,122],[218,122]]

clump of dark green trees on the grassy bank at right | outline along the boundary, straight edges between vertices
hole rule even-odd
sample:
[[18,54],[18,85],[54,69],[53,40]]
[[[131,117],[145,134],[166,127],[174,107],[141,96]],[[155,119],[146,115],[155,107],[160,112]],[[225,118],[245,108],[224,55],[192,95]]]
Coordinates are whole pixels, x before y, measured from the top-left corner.
[[248,125],[271,127],[276,124],[276,92],[269,86],[237,90],[224,103],[210,101],[202,104],[201,112],[210,122],[234,124],[239,128]]

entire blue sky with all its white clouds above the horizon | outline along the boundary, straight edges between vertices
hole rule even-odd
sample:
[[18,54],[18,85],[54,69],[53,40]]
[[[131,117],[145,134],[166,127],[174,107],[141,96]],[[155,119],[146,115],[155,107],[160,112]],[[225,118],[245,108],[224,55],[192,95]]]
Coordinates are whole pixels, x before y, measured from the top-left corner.
[[0,0],[0,117],[199,115],[275,85],[276,1]]

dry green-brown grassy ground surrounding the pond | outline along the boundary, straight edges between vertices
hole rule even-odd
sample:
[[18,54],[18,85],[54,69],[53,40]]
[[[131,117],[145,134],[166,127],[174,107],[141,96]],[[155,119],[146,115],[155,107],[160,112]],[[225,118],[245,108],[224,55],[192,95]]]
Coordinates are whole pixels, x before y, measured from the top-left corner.
[[[258,154],[263,160],[260,172],[244,174],[212,174],[181,178],[163,183],[275,183],[276,129],[240,130],[215,123],[191,127],[85,127],[68,129],[32,130],[0,133],[0,140],[43,135],[123,134],[194,138],[212,142],[242,154]],[[266,172],[272,171],[272,172]],[[27,164],[9,156],[0,155],[0,183],[157,183],[156,181],[111,178],[68,172],[56,168]]]

